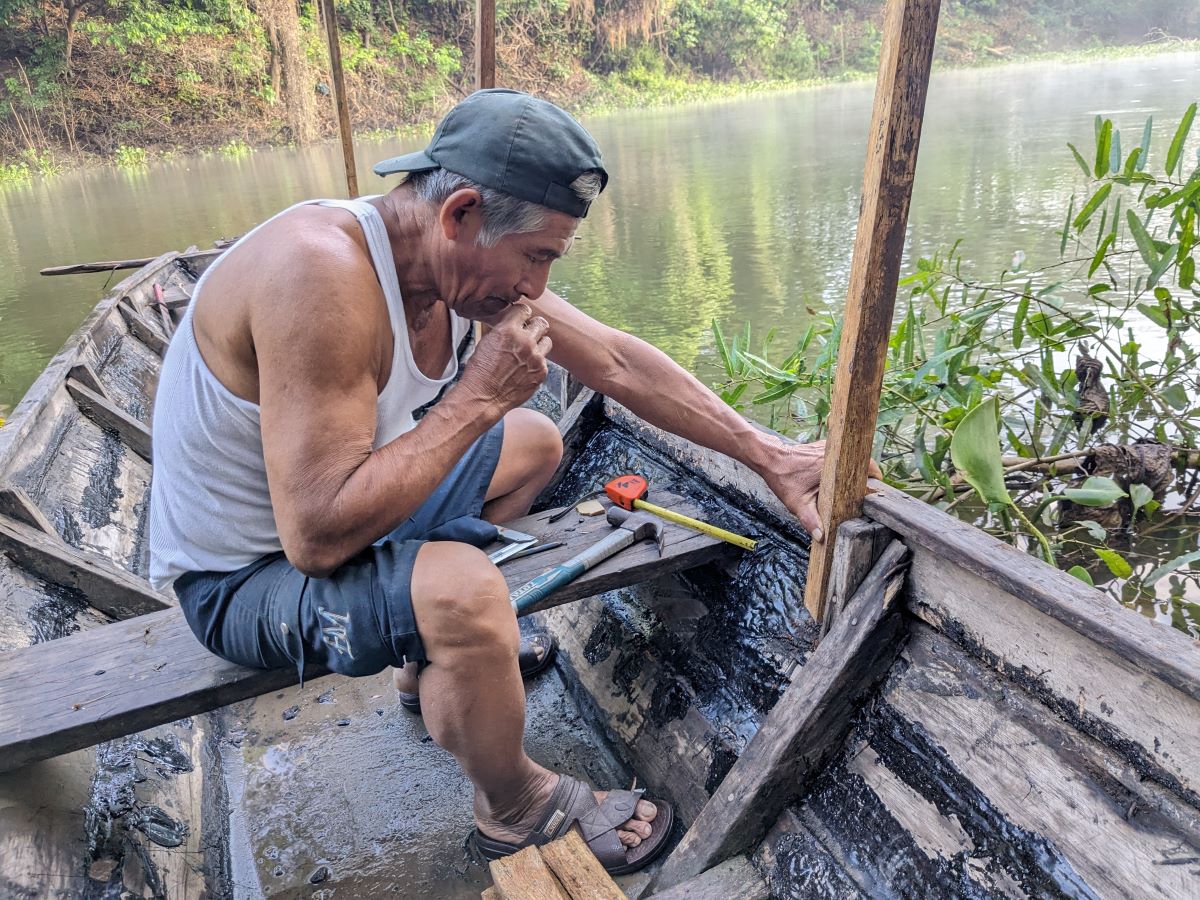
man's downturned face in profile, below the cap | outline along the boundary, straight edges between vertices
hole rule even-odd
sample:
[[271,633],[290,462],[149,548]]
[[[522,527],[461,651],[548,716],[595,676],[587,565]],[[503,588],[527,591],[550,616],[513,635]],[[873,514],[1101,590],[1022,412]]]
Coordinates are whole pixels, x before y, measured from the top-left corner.
[[494,246],[475,244],[481,222],[478,206],[468,208],[448,242],[448,265],[439,277],[442,299],[456,313],[487,323],[521,298],[538,298],[546,290],[550,266],[575,240],[578,220],[547,211],[541,229],[510,234]]

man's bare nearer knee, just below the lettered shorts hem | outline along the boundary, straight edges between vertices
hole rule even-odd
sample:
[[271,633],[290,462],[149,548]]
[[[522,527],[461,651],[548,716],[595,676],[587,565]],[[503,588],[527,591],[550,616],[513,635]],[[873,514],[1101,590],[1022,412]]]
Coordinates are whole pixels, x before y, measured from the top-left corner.
[[497,646],[516,653],[520,636],[500,570],[469,544],[431,541],[413,568],[413,612],[426,650]]

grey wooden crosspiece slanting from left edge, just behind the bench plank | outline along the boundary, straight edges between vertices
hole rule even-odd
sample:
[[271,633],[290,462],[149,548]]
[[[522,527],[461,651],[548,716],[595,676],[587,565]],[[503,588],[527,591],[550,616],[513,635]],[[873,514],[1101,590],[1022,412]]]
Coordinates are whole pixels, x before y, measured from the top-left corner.
[[107,616],[128,619],[172,606],[145,581],[95,553],[76,550],[56,533],[0,518],[0,551],[52,584],[72,588]]

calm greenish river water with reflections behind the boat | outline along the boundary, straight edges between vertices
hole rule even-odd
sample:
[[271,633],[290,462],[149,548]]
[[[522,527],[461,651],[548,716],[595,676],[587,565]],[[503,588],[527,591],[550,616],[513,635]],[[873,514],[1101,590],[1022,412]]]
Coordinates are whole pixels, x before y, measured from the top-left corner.
[[[1153,114],[1160,143],[1151,154],[1162,158],[1163,132],[1198,83],[1200,54],[936,74],[906,270],[960,238],[982,277],[1016,251],[1026,268],[1054,262],[1067,198],[1082,187],[1067,142],[1087,155],[1092,120],[1104,114],[1132,146]],[[787,346],[806,307],[844,302],[872,91],[841,84],[587,120],[611,186],[552,287],[709,379],[714,318],[776,329]],[[372,162],[424,143],[360,142],[364,192],[392,184],[371,174]],[[38,269],[206,247],[296,200],[340,196],[341,179],[340,151],[324,145],[73,172],[0,191],[0,416],[121,277],[44,278]]]

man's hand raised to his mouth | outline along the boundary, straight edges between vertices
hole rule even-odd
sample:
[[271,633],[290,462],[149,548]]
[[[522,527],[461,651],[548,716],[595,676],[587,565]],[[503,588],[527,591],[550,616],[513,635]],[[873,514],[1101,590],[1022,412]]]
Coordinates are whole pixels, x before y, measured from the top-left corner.
[[494,319],[462,373],[460,389],[504,415],[524,403],[546,379],[550,323],[528,305],[510,306]]

